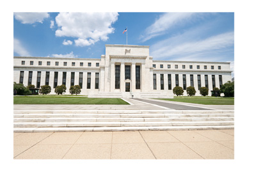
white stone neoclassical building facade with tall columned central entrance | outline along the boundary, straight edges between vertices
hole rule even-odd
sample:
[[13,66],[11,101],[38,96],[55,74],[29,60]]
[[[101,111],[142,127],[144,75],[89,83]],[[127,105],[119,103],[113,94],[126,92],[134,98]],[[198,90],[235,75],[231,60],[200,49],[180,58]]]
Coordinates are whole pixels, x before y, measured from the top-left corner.
[[81,86],[88,97],[172,98],[173,88],[214,87],[231,81],[229,62],[163,61],[149,56],[149,46],[106,45],[100,59],[14,57],[14,82],[36,88],[48,84]]

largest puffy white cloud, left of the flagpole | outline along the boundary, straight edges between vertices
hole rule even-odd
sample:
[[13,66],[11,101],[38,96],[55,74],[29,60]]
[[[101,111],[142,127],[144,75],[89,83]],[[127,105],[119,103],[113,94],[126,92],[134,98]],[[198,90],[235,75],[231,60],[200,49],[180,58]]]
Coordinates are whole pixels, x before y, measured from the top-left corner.
[[118,13],[59,13],[56,16],[56,36],[70,36],[77,46],[95,44],[99,40],[108,40],[108,35],[115,31],[112,24]]

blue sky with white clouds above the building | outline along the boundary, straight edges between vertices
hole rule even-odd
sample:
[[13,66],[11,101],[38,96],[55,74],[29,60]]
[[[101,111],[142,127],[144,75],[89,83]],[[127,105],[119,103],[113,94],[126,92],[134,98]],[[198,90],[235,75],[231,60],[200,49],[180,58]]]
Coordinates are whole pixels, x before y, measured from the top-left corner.
[[149,45],[153,60],[230,61],[234,13],[13,13],[14,56],[100,58],[105,44]]

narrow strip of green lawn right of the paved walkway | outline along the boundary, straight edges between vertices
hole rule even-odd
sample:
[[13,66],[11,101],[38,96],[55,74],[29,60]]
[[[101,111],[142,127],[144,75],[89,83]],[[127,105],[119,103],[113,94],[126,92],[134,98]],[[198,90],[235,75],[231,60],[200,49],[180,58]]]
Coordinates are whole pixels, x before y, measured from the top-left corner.
[[173,102],[186,102],[204,105],[234,105],[234,97],[174,97],[174,99],[160,99]]

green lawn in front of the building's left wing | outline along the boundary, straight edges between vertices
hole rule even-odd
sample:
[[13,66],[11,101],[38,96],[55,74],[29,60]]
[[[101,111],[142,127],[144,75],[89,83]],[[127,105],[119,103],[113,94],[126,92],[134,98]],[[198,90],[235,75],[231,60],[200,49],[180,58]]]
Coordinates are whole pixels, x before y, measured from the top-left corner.
[[104,99],[87,97],[13,97],[13,104],[110,104],[110,105],[129,105],[122,99]]

